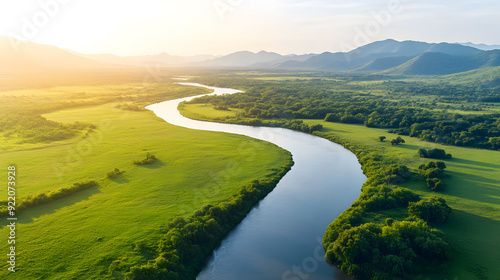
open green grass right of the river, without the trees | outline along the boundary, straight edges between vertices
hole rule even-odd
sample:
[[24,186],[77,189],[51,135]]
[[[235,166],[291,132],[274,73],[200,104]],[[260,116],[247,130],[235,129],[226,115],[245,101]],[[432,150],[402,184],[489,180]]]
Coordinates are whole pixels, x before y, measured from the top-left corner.
[[[181,107],[181,112],[186,116],[197,116],[204,120],[238,119],[236,111],[227,111],[226,115],[220,118],[216,110],[208,107],[203,104],[187,104]],[[322,133],[333,134],[352,145],[384,157],[396,158],[414,171],[420,164],[430,161],[417,155],[419,148],[441,148],[452,154],[453,159],[445,161],[447,165],[445,173],[450,177],[445,178],[444,191],[430,192],[419,178],[401,184],[425,198],[442,197],[454,209],[448,223],[438,226],[444,231],[452,245],[453,259],[449,267],[441,274],[425,275],[419,279],[498,279],[500,275],[498,266],[500,243],[496,242],[498,232],[500,232],[500,153],[498,151],[443,146],[406,136],[403,136],[405,144],[392,146],[390,140],[396,138],[396,135],[387,133],[384,129],[321,120],[303,121],[308,125],[321,124],[323,125]],[[379,136],[386,136],[387,140],[380,142]],[[390,211],[394,212],[394,210]],[[382,216],[374,217],[374,221],[383,222],[385,220],[383,212],[380,214]],[[392,217],[406,216],[405,213],[387,214]]]

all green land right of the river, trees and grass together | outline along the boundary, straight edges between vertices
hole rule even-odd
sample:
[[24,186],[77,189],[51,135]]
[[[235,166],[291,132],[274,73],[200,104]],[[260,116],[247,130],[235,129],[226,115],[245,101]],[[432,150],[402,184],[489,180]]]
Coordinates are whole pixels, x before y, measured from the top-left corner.
[[[368,181],[362,195],[325,234],[327,258],[331,262],[358,277],[374,279],[495,279],[500,273],[493,261],[499,258],[500,247],[492,243],[494,232],[500,230],[500,205],[496,199],[500,197],[500,157],[495,151],[457,147],[468,143],[466,146],[496,149],[492,143],[496,143],[498,137],[495,136],[498,106],[484,99],[496,94],[496,85],[478,87],[480,81],[476,79],[462,83],[462,77],[456,79],[455,76],[401,82],[397,77],[346,77],[330,73],[221,76],[197,80],[235,87],[246,93],[198,99],[184,105],[183,114],[218,122],[251,120],[260,125],[308,118],[301,124],[322,125],[314,134],[343,144],[355,152],[363,164]],[[414,86],[412,94],[404,88],[391,90],[398,83]],[[475,90],[477,88],[484,90]],[[460,91],[454,94],[457,89]],[[422,92],[416,94],[419,90]],[[215,110],[215,106],[225,111]],[[368,110],[353,110],[363,107]],[[370,108],[375,108],[380,116],[374,119],[374,124],[385,122],[384,125],[367,123],[367,117],[375,112]],[[322,118],[328,121],[314,120]],[[443,119],[450,121],[442,122]],[[443,129],[447,125],[453,129]],[[397,128],[391,132],[399,133],[404,144],[391,145],[384,141],[386,137],[380,135],[386,131],[371,128],[373,126]],[[403,136],[410,133],[399,129],[407,127],[415,128],[412,136],[429,142]],[[483,130],[485,133],[476,133],[479,127],[487,127]],[[422,137],[429,133],[427,129],[433,137]],[[438,154],[439,150],[444,151],[436,142],[454,145],[445,148],[453,154],[453,159],[447,157],[446,163],[429,162],[419,156],[419,148],[426,152],[438,150]],[[413,176],[408,176],[412,173]],[[429,179],[433,185],[429,185]],[[430,190],[429,186],[439,192]],[[451,215],[449,207],[454,209]],[[383,229],[393,234],[392,244],[406,248],[403,251],[407,254],[401,250],[390,251],[389,238],[384,238]],[[407,232],[414,233],[414,239],[406,238]],[[344,235],[337,239],[341,233]],[[368,243],[372,246],[366,242],[373,242]]]

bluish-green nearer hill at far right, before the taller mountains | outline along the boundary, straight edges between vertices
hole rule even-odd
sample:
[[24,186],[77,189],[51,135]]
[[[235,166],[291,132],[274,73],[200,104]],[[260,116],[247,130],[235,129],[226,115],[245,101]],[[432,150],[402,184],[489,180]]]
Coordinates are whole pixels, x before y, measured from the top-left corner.
[[500,50],[482,51],[471,55],[449,55],[445,53],[423,53],[397,67],[387,74],[404,75],[447,75],[485,67],[500,66]]

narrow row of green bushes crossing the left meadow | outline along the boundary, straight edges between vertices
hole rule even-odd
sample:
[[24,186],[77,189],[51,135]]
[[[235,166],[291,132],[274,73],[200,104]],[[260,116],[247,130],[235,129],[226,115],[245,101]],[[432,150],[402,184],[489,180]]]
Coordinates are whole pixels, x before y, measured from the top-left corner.
[[[59,200],[61,198],[68,197],[77,192],[92,188],[97,186],[96,181],[88,181],[88,182],[80,182],[74,183],[70,187],[61,188],[56,191],[51,191],[47,193],[41,193],[38,195],[28,195],[23,199],[18,199],[16,202],[16,213],[20,213],[26,209],[33,208],[36,206],[44,205],[55,200]],[[0,217],[7,216],[8,209],[7,207],[0,208]]]

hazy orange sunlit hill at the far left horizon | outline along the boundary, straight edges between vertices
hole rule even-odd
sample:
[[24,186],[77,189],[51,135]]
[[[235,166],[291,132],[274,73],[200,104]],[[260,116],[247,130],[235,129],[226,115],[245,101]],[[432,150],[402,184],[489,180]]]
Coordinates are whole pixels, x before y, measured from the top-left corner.
[[105,63],[54,46],[0,36],[0,91],[141,82],[147,75],[144,67]]

